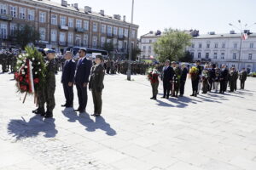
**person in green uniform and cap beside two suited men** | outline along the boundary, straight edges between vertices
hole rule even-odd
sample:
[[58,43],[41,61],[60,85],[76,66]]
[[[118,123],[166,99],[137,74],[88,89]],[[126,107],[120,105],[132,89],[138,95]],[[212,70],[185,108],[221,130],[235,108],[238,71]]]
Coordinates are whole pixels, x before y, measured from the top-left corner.
[[102,114],[102,89],[104,88],[104,67],[102,65],[102,55],[96,56],[96,65],[92,67],[90,74],[89,89],[91,90],[94,114],[91,116],[101,116]]

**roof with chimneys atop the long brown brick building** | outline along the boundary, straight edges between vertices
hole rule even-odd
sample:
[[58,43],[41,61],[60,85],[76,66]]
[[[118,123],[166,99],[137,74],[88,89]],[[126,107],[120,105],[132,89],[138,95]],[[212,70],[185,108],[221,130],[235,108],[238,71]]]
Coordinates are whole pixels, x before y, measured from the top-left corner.
[[[40,1],[31,0],[31,1],[36,2],[36,3],[43,3],[43,4],[51,5],[51,6],[54,6],[54,7],[57,7],[57,8],[63,8],[63,9],[72,10],[74,12],[79,12],[79,13],[85,14],[84,13],[84,8],[78,8],[77,9],[77,8],[74,8],[71,5],[67,5],[67,7],[65,7],[65,6],[62,6],[61,3],[55,3],[55,2],[52,2],[50,0],[40,0]],[[101,18],[108,19],[108,20],[115,20],[115,21],[131,24],[131,23],[123,21],[123,20],[117,20],[113,16],[110,16],[110,15],[107,15],[107,14],[102,15],[102,14],[99,14],[99,13],[93,12],[93,11],[91,11],[91,13],[88,13],[88,15],[92,15],[92,16],[101,17]],[[132,24],[132,25],[137,26],[135,24]]]

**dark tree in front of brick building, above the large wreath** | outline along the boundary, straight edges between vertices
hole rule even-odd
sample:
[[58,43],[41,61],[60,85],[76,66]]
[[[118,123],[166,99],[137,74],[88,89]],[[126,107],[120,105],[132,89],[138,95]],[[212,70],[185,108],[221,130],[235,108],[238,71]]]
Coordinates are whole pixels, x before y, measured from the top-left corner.
[[40,40],[40,33],[36,31],[32,26],[19,26],[19,29],[15,31],[13,41],[19,44],[22,49],[26,47],[27,44],[35,44]]

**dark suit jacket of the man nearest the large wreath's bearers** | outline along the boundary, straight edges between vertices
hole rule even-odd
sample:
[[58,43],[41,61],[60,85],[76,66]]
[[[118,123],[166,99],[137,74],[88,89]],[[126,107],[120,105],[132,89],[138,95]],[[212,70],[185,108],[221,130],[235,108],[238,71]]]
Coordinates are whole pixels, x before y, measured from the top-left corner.
[[70,59],[63,67],[61,82],[73,82],[73,77],[76,71],[76,63]]

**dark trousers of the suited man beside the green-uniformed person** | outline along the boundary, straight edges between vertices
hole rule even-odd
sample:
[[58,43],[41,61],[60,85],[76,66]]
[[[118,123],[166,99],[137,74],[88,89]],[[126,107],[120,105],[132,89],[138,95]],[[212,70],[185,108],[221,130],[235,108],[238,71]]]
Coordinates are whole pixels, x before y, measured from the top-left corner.
[[84,111],[87,105],[87,87],[84,88],[83,84],[76,84],[79,97],[79,111]]

